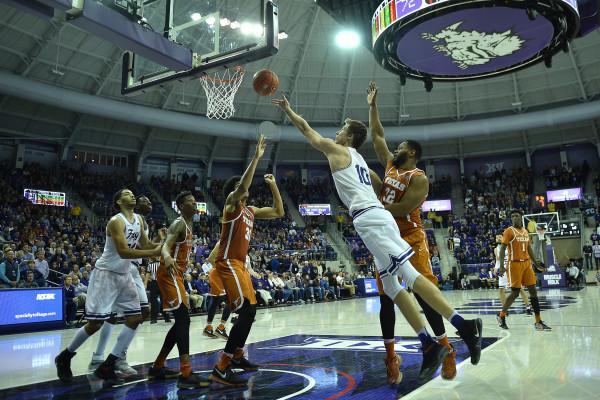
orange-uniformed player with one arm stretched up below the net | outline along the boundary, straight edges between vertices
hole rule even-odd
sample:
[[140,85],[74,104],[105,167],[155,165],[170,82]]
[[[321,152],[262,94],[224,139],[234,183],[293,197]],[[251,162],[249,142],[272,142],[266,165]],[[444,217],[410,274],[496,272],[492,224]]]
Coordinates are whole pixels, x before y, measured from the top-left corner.
[[265,147],[265,139],[261,135],[254,157],[244,175],[229,178],[223,187],[223,194],[227,200],[223,209],[221,238],[215,268],[227,292],[229,308],[232,312],[238,313],[239,317],[233,324],[225,350],[208,379],[228,386],[243,386],[247,383],[245,379],[236,376],[232,368],[244,371],[256,371],[259,368],[244,356],[244,346],[256,315],[256,297],[245,265],[254,219],[281,218],[284,214],[279,189],[275,178],[270,174],[265,175],[264,179],[271,189],[273,206],[257,208],[246,205],[248,190]]

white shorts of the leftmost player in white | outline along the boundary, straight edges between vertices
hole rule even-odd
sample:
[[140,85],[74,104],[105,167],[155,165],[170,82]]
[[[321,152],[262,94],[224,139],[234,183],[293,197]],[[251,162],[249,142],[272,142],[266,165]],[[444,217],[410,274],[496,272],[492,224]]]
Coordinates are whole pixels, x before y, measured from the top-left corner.
[[90,277],[85,315],[90,320],[107,320],[113,311],[120,315],[141,314],[140,298],[131,274],[94,269]]

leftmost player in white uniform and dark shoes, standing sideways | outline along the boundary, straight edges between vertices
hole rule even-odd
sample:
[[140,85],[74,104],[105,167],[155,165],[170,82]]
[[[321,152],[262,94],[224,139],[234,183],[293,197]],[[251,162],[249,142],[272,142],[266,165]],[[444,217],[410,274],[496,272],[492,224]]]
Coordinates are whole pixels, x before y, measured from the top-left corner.
[[120,211],[106,225],[106,243],[90,277],[85,305],[87,324],[80,328],[71,343],[55,359],[56,372],[62,382],[71,382],[71,359],[75,351],[109,319],[113,310],[125,316],[125,326],[106,360],[96,369],[99,378],[118,381],[115,363],[123,357],[142,322],[140,299],[131,277],[131,260],[160,255],[161,245],[148,240],[141,218],[133,212],[136,200],[129,189],[121,189],[113,197]]

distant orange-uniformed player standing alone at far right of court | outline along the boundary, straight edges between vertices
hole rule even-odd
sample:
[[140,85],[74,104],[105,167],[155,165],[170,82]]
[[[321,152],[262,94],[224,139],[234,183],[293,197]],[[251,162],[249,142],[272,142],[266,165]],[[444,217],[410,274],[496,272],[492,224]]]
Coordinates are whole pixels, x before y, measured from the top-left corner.
[[[506,313],[508,309],[519,297],[522,287],[529,290],[529,301],[535,315],[535,329],[538,331],[550,331],[548,325],[542,321],[540,314],[540,301],[537,297],[535,288],[536,277],[533,271],[533,264],[540,266],[529,240],[529,232],[523,227],[523,214],[515,210],[510,214],[512,226],[504,230],[502,234],[502,246],[500,246],[500,276],[508,272],[508,284],[511,289],[510,295],[502,305],[502,311],[498,315],[498,324],[503,329],[508,329],[506,325]],[[506,248],[508,247],[508,268],[504,267],[504,258],[506,257]]]

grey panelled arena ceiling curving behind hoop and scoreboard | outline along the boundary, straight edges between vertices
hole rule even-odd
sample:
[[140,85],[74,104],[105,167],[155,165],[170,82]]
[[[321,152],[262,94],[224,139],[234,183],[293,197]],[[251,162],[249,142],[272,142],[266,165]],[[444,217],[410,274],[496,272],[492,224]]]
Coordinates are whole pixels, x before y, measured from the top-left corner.
[[[355,50],[338,48],[334,35],[341,28],[352,27],[348,26],[352,23],[342,27],[313,0],[280,0],[278,3],[280,30],[285,31],[288,38],[280,41],[276,56],[247,65],[247,75],[251,77],[261,68],[277,72],[280,93],[285,93],[297,111],[317,126],[338,126],[347,116],[367,120],[365,89],[370,80],[376,80],[381,88],[379,109],[386,126],[517,115],[600,97],[600,30],[574,41],[571,52],[555,56],[551,69],[537,65],[489,80],[436,83],[433,91],[427,93],[417,81],[409,80],[402,87],[397,76],[375,62],[366,46]],[[369,38],[362,40],[368,42]],[[113,100],[192,115],[205,114],[206,98],[197,81],[134,97],[121,96],[121,54],[121,49],[111,43],[64,23],[63,15],[45,20],[0,4],[1,70]],[[287,123],[282,113],[269,103],[269,98],[256,95],[249,77],[236,96],[235,119]],[[208,137],[198,140],[198,135],[82,115],[58,105],[11,96],[0,100],[0,129],[5,137],[45,137],[63,147],[82,144],[165,156],[175,152],[182,157],[194,154],[205,157],[216,152],[213,146],[225,142],[225,139]],[[552,139],[548,139],[550,133]],[[506,136],[518,138],[518,145],[510,149],[535,148],[538,142],[598,140],[593,121]],[[167,145],[168,142],[173,143]],[[239,154],[234,151],[232,158],[247,156],[246,142],[227,140],[232,144],[229,150],[236,148],[235,143],[239,144]],[[498,150],[497,144],[491,143],[485,135],[465,140],[436,140],[429,146],[430,153],[439,157]],[[289,144],[287,147],[296,154],[292,159],[302,158],[301,153],[307,154],[306,146]]]

